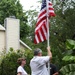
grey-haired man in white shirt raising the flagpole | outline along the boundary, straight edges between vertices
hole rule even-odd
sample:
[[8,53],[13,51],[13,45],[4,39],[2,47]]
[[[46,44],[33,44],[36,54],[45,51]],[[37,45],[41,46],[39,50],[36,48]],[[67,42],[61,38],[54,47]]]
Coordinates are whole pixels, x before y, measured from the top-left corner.
[[34,57],[30,61],[31,75],[49,75],[46,63],[52,58],[50,47],[47,48],[48,56],[42,56],[42,50],[34,50]]

